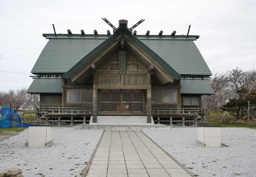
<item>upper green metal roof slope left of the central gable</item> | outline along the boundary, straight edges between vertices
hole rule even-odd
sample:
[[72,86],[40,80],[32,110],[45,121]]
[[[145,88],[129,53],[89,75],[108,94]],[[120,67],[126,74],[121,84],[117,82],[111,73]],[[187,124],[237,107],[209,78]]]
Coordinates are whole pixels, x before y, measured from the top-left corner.
[[95,49],[106,37],[92,39],[50,39],[31,71],[39,73],[65,73],[85,55]]

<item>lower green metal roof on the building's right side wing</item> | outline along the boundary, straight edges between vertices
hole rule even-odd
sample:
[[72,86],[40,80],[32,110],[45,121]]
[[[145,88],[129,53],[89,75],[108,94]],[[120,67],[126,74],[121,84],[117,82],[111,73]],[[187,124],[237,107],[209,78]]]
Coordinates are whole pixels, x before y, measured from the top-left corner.
[[208,80],[206,79],[180,79],[181,94],[214,94]]

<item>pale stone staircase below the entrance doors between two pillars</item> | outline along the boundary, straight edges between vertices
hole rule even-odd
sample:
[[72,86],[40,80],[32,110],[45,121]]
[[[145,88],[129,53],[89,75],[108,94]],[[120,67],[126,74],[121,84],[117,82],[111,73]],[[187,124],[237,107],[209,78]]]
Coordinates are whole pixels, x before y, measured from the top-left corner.
[[151,117],[151,124],[147,124],[147,116],[97,116],[97,123],[93,123],[91,116],[90,125],[154,125]]

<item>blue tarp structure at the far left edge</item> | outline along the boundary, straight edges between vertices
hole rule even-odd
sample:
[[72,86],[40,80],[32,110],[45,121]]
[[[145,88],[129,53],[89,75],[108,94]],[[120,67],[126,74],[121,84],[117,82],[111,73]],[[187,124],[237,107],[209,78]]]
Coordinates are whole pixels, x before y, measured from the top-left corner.
[[[11,112],[11,117],[10,117],[10,112]],[[14,109],[11,109],[10,107],[3,105],[2,106],[2,111],[1,111],[1,118],[0,118],[0,128],[9,128],[11,127],[21,127],[21,119],[20,116],[17,114],[17,112]],[[11,121],[12,120],[12,121]],[[22,124],[23,127],[28,127],[28,125],[33,125],[33,124]]]

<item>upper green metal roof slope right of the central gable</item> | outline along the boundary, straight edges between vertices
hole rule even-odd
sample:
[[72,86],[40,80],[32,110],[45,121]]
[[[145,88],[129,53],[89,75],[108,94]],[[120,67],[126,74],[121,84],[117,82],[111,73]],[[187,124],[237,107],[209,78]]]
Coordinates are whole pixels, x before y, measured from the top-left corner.
[[192,40],[138,38],[181,75],[211,76],[211,71]]

